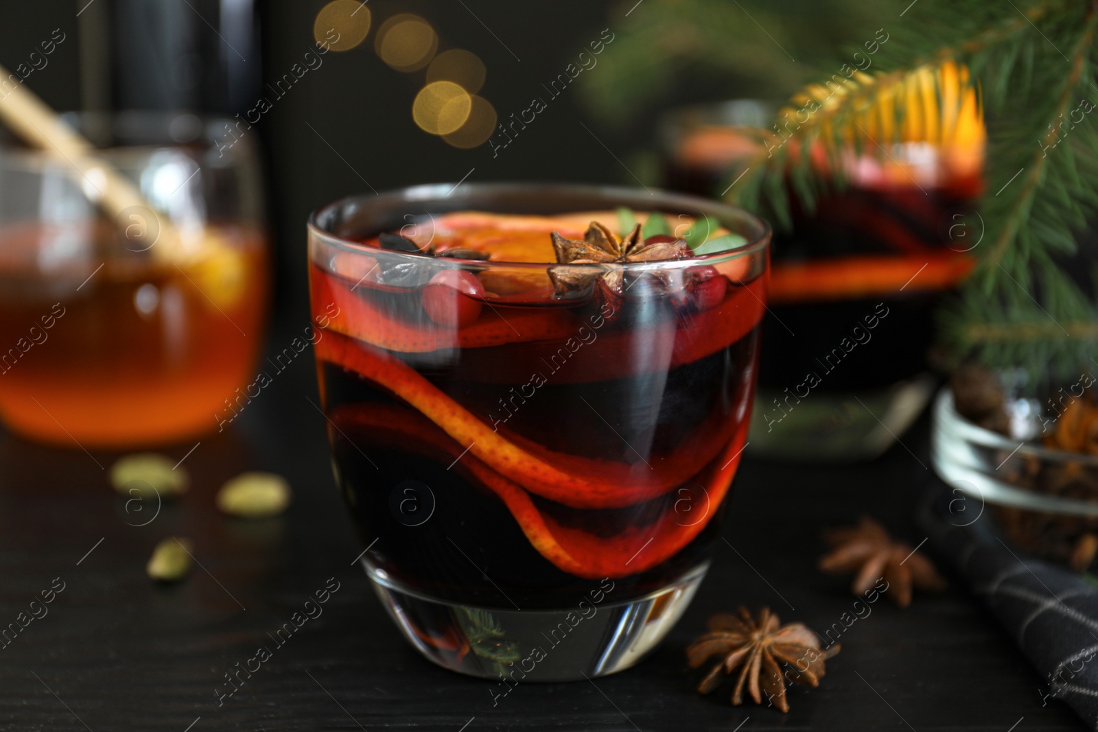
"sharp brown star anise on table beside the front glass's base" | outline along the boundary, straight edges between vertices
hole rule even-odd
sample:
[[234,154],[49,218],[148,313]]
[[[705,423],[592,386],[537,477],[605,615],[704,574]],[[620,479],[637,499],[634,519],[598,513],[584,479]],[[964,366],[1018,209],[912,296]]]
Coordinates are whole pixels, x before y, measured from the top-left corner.
[[[706,674],[697,690],[709,694],[720,685],[720,672],[731,674],[742,666],[732,703],[743,703],[743,685],[754,702],[762,703],[762,692],[766,694],[775,707],[789,711],[785,698],[785,677],[798,684],[818,686],[824,676],[824,662],[839,652],[838,643],[828,649],[820,647],[819,638],[803,623],[783,626],[777,616],[763,608],[758,618],[752,618],[747,608],[740,608],[740,616],[721,612],[709,618],[709,632],[702,635],[686,649],[691,668],[697,668],[707,658],[719,655],[720,663]],[[783,672],[782,664],[792,666]]]

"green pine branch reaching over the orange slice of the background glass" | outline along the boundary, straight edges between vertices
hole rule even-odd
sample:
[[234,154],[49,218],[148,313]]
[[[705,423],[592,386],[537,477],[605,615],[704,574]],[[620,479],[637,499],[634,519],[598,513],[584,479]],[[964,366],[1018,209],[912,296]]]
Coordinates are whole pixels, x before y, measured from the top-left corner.
[[[976,273],[943,318],[943,340],[957,357],[974,354],[997,368],[1021,367],[1037,383],[1075,373],[1098,346],[1094,326],[1098,308],[1060,260],[1075,251],[1074,232],[1098,213],[1098,131],[1089,120],[1076,119],[1087,87],[1098,89],[1091,59],[1098,3],[1045,1],[1017,15],[991,26],[959,20],[961,35],[920,57],[967,65],[981,74],[990,110],[1012,108],[988,121],[987,179],[1001,181],[988,187],[979,204],[990,246],[973,252]],[[1067,68],[1035,64],[1034,43],[1045,44],[1041,49],[1045,56],[1052,47],[1069,50]],[[739,187],[738,202],[787,222],[791,191],[811,211],[821,193],[845,184],[843,155],[886,155],[886,146],[899,139],[904,119],[925,115],[926,108],[933,106],[923,104],[925,97],[909,93],[928,69],[917,64],[872,79],[855,76],[842,88],[829,82],[829,106],[796,131],[795,143],[782,139],[775,154],[777,138],[764,136],[764,153],[751,165],[752,178]],[[946,98],[955,98],[943,87],[944,78],[940,72],[934,76],[940,108]],[[821,87],[809,87],[794,103],[804,110],[807,99],[820,95]],[[883,124],[892,135],[882,139],[869,134],[859,124],[865,110],[879,110],[883,121],[893,120],[892,127]],[[939,111],[943,117],[950,113]],[[783,111],[780,121],[788,113]],[[1061,142],[1064,137],[1066,145]],[[859,147],[859,138],[870,143]],[[1033,153],[1031,145],[1037,145]],[[800,155],[794,154],[795,146],[802,148]],[[821,151],[826,164],[809,159],[805,148]],[[1019,171],[1021,180],[1011,180]]]

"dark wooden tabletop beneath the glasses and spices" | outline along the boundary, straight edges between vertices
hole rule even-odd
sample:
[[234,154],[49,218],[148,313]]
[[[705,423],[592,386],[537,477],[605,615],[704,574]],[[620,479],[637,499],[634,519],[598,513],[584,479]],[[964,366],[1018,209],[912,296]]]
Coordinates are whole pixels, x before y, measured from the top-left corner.
[[[273,347],[280,342],[276,335]],[[362,547],[334,488],[305,356],[232,431],[202,439],[183,463],[191,492],[144,527],[133,525],[150,514],[127,511],[100,468],[116,455],[0,436],[0,626],[56,577],[65,583],[48,615],[0,650],[0,730],[1082,728],[1061,703],[1041,706],[1037,674],[955,581],[943,595],[918,595],[906,611],[874,605],[842,635],[822,685],[792,689],[788,714],[733,708],[730,686],[710,697],[694,692],[698,673],[686,668],[683,647],[712,612],[768,605],[783,620],[822,629],[852,609],[848,583],[815,570],[822,527],[870,513],[912,542],[922,539],[910,515],[927,473],[904,447],[853,468],[747,460],[728,543],[654,654],[594,684],[522,685],[493,707],[490,682],[421,658],[352,566]],[[923,464],[926,443],[923,420],[905,438]],[[192,447],[167,452],[180,459]],[[295,499],[284,517],[242,522],[217,514],[216,487],[248,469],[290,480]],[[169,536],[193,540],[201,568],[163,587],[144,566]],[[259,645],[272,646],[267,633],[329,577],[340,588],[323,615],[219,706],[224,674]]]

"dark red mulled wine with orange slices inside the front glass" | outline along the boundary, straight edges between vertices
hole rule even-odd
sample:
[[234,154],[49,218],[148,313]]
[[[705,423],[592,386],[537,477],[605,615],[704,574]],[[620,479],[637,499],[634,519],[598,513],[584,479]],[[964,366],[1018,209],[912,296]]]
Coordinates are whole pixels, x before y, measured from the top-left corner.
[[[765,228],[456,203],[312,232],[328,437],[373,578],[500,612],[696,573],[746,439]],[[451,632],[405,619],[435,651]]]

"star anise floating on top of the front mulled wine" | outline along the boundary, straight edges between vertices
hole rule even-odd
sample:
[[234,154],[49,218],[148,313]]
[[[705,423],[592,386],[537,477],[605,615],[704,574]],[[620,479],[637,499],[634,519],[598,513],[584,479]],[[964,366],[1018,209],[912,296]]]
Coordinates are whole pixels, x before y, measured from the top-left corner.
[[552,280],[557,296],[582,296],[594,284],[595,295],[615,311],[628,288],[624,269],[616,264],[683,259],[690,256],[685,239],[660,237],[658,241],[646,244],[640,224],[634,226],[621,239],[598,222],[591,222],[583,240],[568,239],[557,232],[550,236],[559,264],[605,266],[601,272],[590,267],[551,267],[549,279]]

